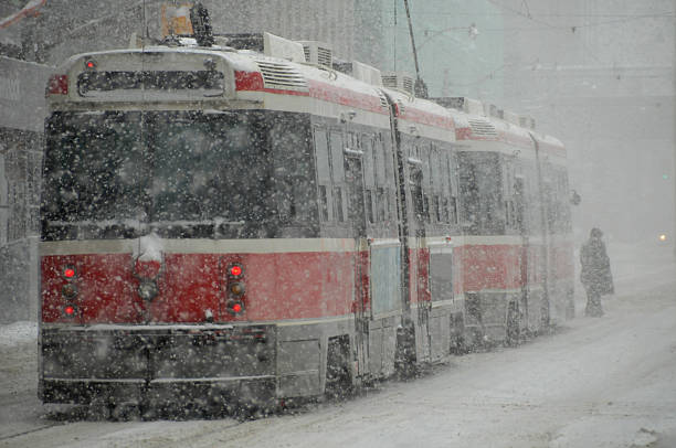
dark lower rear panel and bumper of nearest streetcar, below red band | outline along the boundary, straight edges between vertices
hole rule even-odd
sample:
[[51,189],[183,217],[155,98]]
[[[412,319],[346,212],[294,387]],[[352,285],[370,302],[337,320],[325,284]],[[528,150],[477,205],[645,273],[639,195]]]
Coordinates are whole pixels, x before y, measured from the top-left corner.
[[89,326],[41,330],[45,403],[270,401],[275,326]]

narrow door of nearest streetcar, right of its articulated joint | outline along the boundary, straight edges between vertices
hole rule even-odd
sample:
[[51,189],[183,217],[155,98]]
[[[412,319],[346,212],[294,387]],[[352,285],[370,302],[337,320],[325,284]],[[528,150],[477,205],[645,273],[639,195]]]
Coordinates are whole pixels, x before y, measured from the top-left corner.
[[422,166],[410,164],[410,184],[414,214],[410,235],[413,236],[413,244],[410,244],[411,298],[416,303],[414,309],[418,310],[415,352],[420,363],[430,360],[430,313],[432,311],[429,285],[430,252],[425,247],[425,218],[430,210],[423,190]]

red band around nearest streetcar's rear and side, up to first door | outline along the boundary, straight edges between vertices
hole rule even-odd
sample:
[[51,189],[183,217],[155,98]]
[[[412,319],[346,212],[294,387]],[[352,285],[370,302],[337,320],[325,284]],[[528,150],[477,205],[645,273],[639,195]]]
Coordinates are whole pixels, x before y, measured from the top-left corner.
[[[166,254],[158,270],[133,270],[130,254],[42,257],[42,320],[62,321],[67,281],[64,265],[77,267],[80,323],[203,322],[207,310],[220,321],[320,319],[350,313],[353,253],[240,254],[246,269],[245,313],[226,311],[229,256]],[[152,266],[157,267],[157,266]],[[157,276],[159,294],[145,302],[137,288]]]

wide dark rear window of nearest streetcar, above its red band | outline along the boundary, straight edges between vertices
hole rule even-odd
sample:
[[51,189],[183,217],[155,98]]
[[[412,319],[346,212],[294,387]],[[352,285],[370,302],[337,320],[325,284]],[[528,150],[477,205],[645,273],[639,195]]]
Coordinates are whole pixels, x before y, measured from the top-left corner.
[[262,220],[270,158],[260,121],[244,113],[54,114],[43,226]]

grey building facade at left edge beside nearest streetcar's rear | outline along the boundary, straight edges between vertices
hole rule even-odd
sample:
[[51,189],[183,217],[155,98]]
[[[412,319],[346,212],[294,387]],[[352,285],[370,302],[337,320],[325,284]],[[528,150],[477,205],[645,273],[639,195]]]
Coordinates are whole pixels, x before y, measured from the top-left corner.
[[49,67],[0,56],[0,322],[35,319]]

